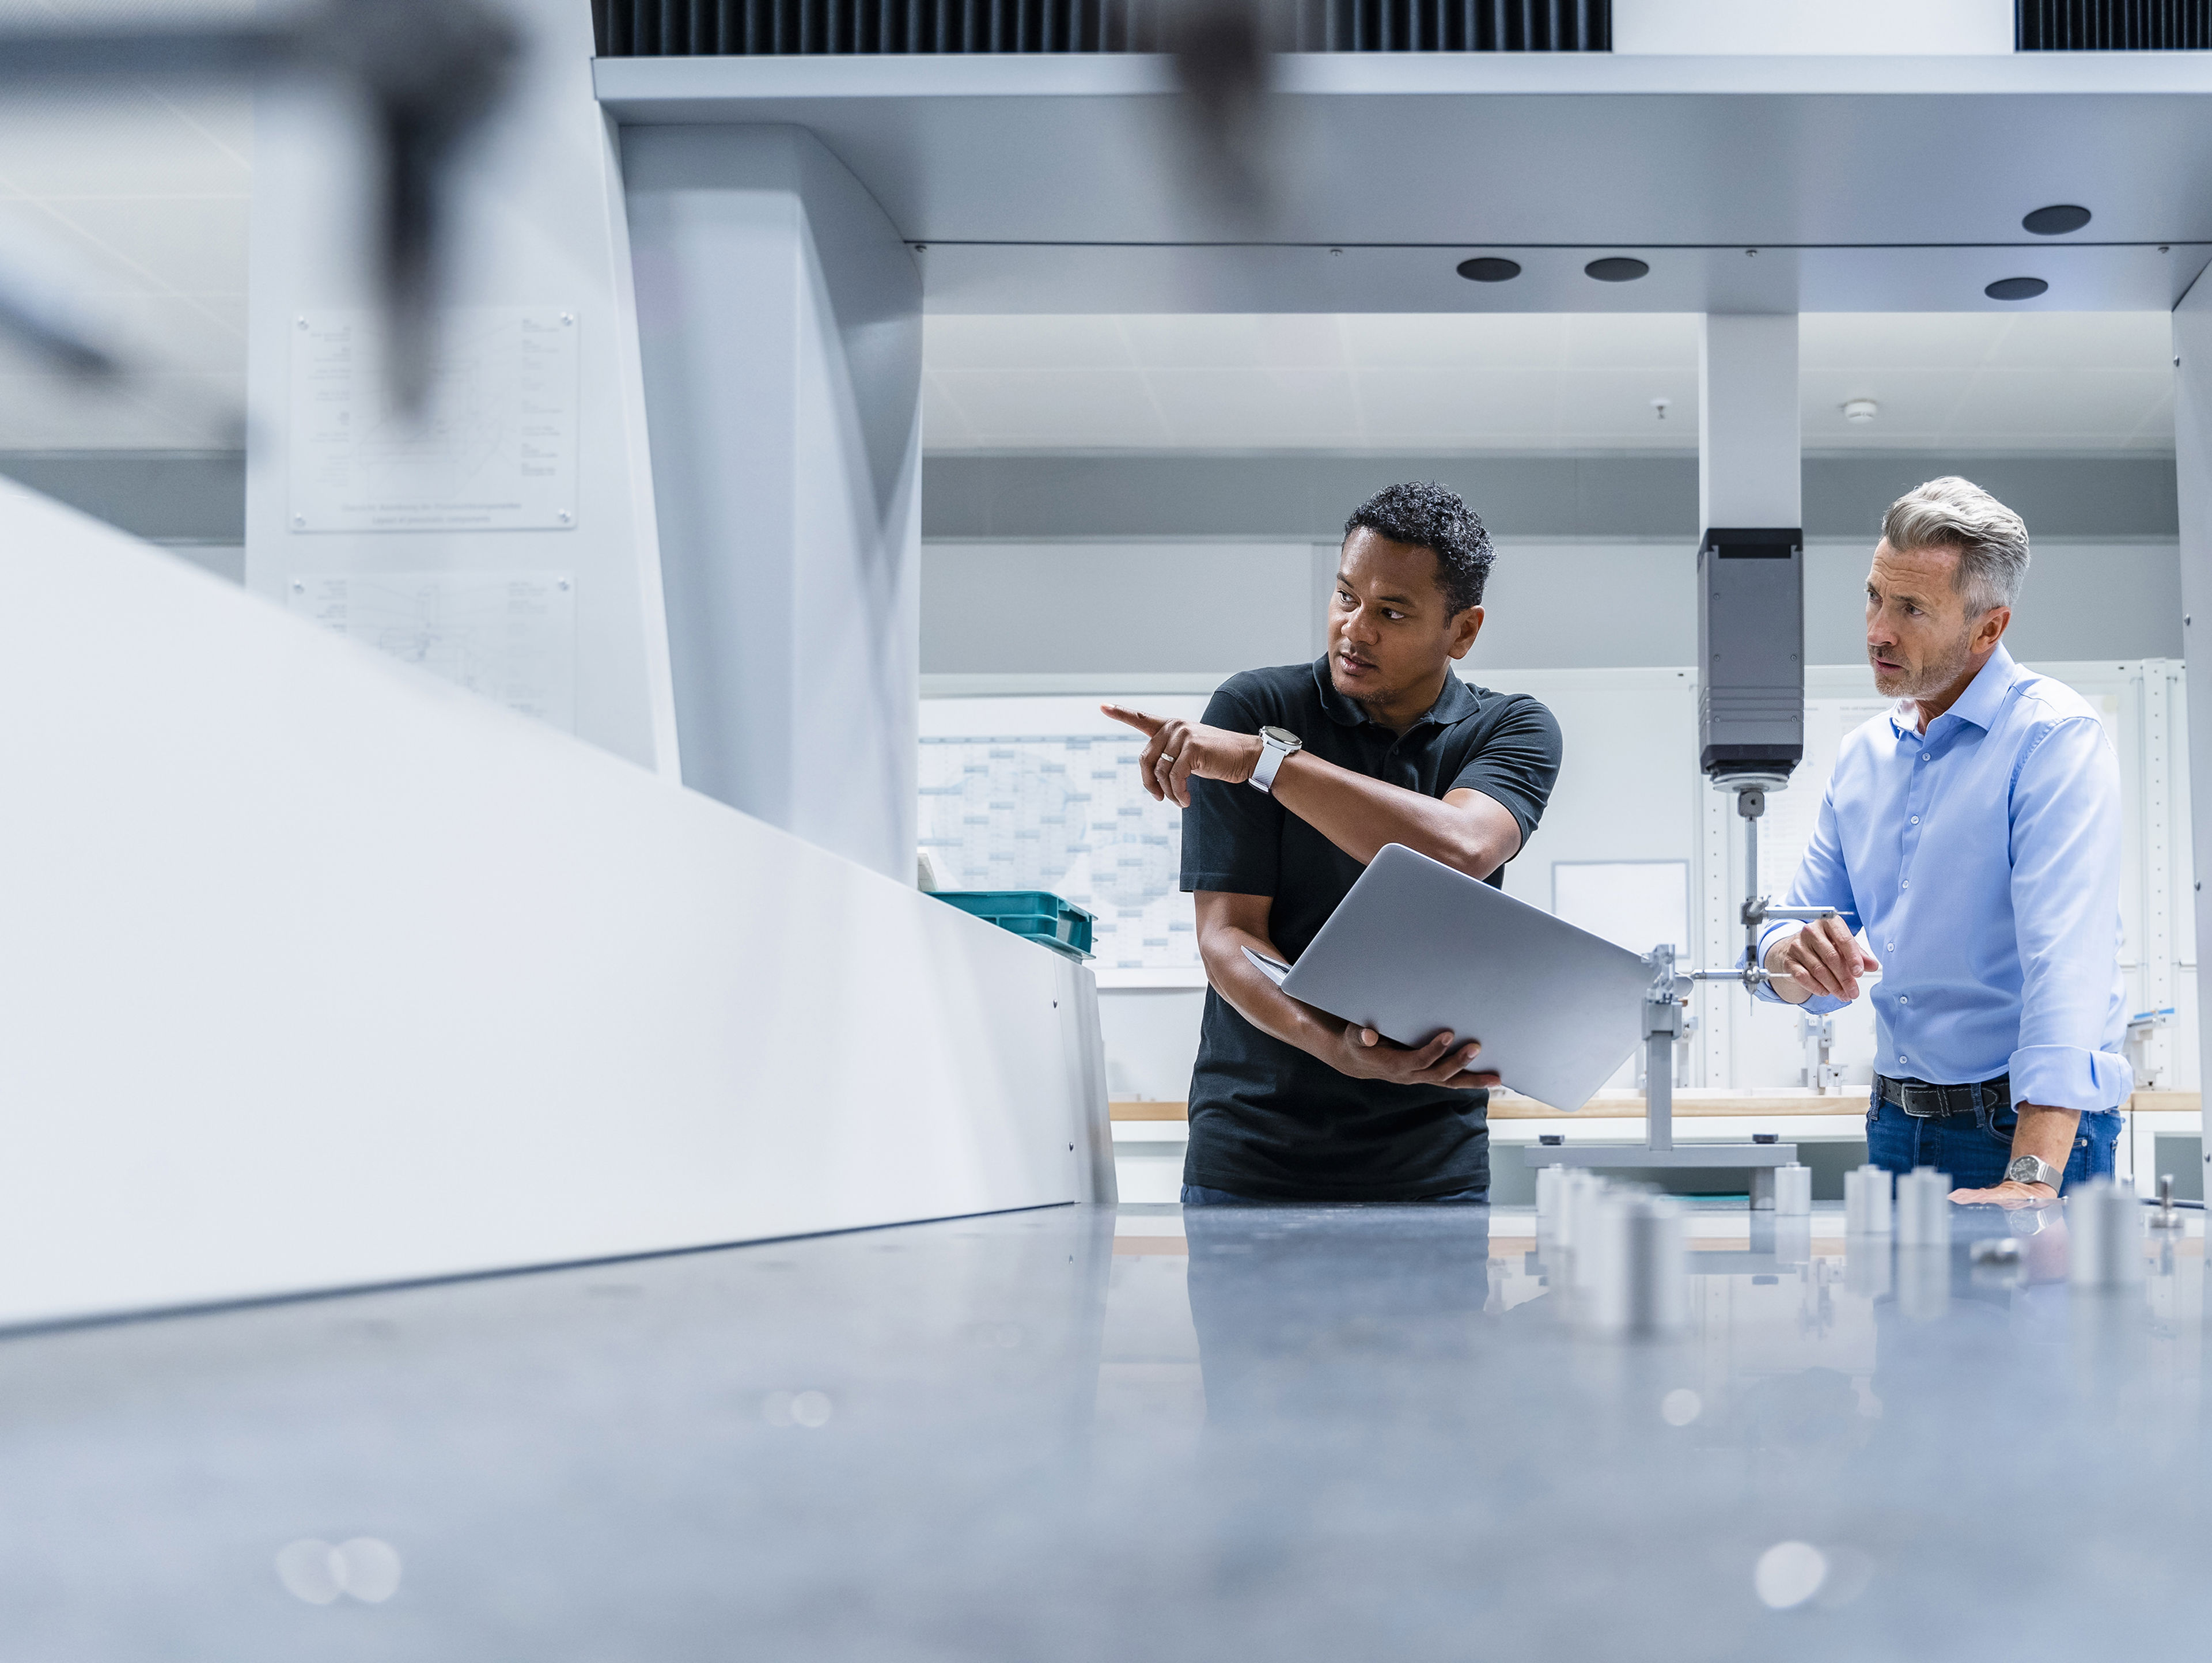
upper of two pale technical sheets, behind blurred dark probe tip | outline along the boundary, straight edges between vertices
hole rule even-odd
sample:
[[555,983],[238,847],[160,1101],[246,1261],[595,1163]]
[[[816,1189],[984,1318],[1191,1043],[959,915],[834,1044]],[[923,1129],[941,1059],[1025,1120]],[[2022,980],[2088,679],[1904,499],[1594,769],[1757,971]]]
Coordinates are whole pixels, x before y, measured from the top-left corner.
[[292,531],[562,531],[575,524],[577,316],[442,314],[420,418],[385,385],[374,312],[292,318]]

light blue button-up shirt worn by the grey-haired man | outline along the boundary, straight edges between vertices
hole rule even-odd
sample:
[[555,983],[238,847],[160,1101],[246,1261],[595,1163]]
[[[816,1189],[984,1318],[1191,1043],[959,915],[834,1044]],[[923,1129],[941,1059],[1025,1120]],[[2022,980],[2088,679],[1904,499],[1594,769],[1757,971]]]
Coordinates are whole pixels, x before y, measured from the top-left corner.
[[[1900,703],[1843,741],[1787,904],[1865,929],[1882,964],[1876,1070],[1938,1086],[2011,1075],[2015,1104],[2119,1108],[2135,1068],[2104,723],[2002,646],[1924,734],[1916,721]],[[1761,962],[1787,929],[1761,935]]]

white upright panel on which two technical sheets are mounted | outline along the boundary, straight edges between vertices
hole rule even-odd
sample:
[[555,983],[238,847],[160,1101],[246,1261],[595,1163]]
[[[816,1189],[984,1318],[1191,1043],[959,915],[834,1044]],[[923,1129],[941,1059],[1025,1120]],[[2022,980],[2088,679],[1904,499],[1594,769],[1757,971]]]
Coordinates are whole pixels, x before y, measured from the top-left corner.
[[[591,91],[591,13],[515,0],[531,46],[509,104],[467,150],[447,203],[451,307],[575,316],[575,524],[529,531],[296,531],[292,407],[299,318],[376,305],[376,201],[349,108],[325,91],[257,100],[248,314],[246,584],[301,575],[560,573],[575,584],[575,732],[675,776],[653,478],[630,250],[613,135]],[[473,411],[458,411],[467,427]],[[438,436],[398,433],[400,447]],[[462,433],[451,449],[476,440]],[[442,444],[436,449],[445,449]]]

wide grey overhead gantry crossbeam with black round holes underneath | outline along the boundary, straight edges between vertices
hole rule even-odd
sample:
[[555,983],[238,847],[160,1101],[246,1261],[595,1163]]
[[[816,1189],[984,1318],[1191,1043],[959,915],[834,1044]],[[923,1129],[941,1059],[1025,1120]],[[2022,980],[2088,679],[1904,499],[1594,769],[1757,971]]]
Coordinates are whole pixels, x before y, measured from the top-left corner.
[[[2026,305],[2163,310],[2212,254],[2201,55],[1287,55],[1259,230],[1186,188],[1164,57],[595,75],[624,124],[816,133],[927,245],[936,310],[1982,310],[2022,274]],[[2095,219],[2022,228],[2059,201]],[[1524,272],[1462,281],[1471,252]],[[1595,283],[1601,254],[1650,276]]]

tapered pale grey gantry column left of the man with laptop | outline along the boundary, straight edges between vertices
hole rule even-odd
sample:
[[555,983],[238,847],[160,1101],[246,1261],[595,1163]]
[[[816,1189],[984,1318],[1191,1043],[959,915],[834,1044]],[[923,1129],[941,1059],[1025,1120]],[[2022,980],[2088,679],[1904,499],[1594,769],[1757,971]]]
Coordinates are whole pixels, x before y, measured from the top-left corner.
[[796,128],[624,139],[684,783],[914,871],[922,279]]

